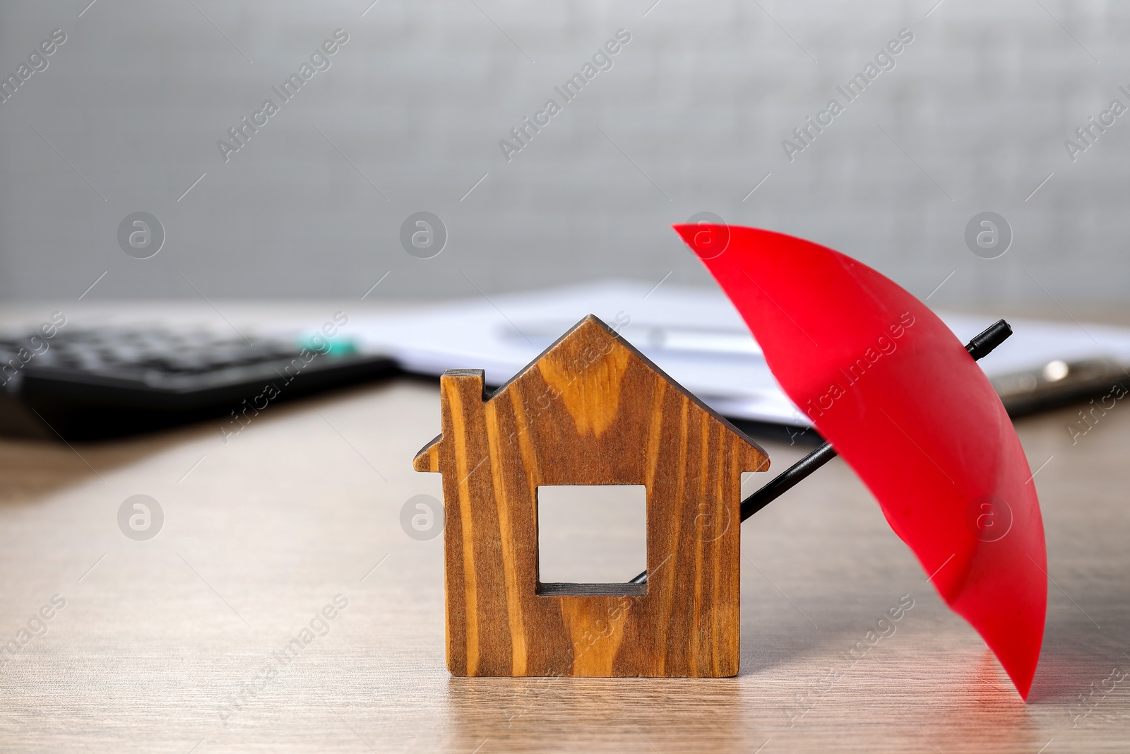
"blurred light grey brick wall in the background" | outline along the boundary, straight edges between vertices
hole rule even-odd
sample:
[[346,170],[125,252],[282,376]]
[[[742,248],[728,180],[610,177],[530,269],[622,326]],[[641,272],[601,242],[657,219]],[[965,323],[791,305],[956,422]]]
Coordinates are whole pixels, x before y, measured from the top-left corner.
[[[1130,114],[1064,147],[1130,105],[1125,2],[371,1],[0,5],[5,77],[67,35],[0,103],[0,296],[77,298],[104,272],[86,301],[357,297],[385,272],[371,298],[710,285],[668,226],[712,211],[919,297],[954,272],[931,305],[1130,297]],[[217,141],[339,28],[331,67],[225,162]],[[895,68],[790,162],[782,140],[904,28]],[[144,260],[116,235],[139,210],[166,232]],[[447,228],[433,259],[401,248],[419,210]],[[964,240],[984,210],[1014,232],[998,259]]]

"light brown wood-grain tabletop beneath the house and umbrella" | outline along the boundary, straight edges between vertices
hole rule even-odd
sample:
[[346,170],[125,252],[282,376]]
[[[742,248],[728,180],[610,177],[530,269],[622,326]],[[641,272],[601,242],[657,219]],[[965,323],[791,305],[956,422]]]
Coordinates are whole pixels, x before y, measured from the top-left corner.
[[[271,406],[226,444],[219,422],[0,441],[0,642],[23,643],[0,665],[0,751],[1130,749],[1121,401],[1074,444],[1078,406],[1017,422],[1052,578],[1025,703],[838,459],[742,525],[736,678],[451,677],[443,538],[401,525],[441,496],[411,469],[437,397],[397,379]],[[809,450],[762,444],[777,471]],[[138,494],[164,514],[148,540],[119,525]],[[905,595],[895,633],[845,659]]]

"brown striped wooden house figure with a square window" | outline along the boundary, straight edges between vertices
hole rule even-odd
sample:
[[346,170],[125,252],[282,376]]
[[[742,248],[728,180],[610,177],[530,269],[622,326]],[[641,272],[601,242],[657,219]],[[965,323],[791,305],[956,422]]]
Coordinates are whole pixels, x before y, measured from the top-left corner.
[[[760,448],[592,315],[492,395],[480,370],[440,393],[414,466],[443,475],[453,675],[737,675],[741,474],[768,468]],[[646,583],[541,583],[538,487],[615,484],[646,491]]]

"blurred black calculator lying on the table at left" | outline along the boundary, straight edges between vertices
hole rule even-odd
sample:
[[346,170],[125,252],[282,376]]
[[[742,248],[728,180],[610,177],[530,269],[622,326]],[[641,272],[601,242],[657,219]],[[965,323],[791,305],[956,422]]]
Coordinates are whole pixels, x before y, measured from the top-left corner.
[[0,434],[81,441],[246,417],[249,406],[258,413],[393,371],[385,356],[320,336],[71,326],[0,338]]

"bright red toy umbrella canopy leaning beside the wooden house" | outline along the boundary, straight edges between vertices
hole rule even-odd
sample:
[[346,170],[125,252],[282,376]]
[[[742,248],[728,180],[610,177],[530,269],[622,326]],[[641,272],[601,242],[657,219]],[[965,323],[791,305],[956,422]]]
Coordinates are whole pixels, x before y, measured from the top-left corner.
[[1020,441],[973,357],[925,304],[832,249],[738,226],[675,229],[1027,697],[1048,601],[1043,520]]

